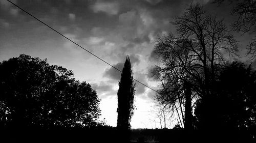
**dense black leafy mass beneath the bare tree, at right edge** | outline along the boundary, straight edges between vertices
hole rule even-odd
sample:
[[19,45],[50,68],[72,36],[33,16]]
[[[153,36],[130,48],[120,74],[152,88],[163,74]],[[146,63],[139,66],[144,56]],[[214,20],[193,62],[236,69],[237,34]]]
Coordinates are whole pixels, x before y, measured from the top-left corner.
[[212,92],[198,102],[198,129],[253,130],[256,127],[256,72],[233,62],[212,84]]

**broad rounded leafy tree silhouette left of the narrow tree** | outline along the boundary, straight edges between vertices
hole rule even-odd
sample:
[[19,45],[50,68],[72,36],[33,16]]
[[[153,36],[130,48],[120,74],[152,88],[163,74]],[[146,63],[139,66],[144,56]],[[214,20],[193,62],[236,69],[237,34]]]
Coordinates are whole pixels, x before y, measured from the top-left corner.
[[0,63],[0,122],[7,127],[95,126],[100,100],[73,72],[21,54]]

